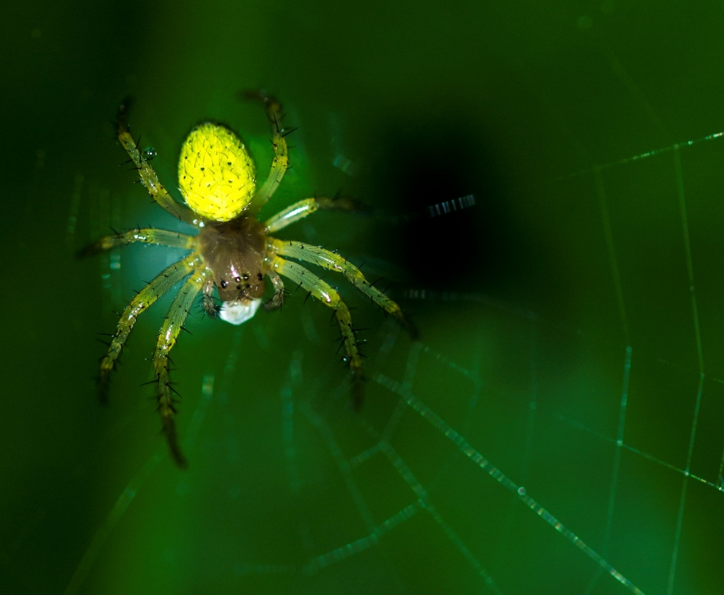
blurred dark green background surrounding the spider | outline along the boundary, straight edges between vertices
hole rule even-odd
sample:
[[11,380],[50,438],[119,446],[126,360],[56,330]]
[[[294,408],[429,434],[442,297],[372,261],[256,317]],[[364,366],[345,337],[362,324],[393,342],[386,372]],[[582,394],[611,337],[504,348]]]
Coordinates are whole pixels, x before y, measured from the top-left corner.
[[[713,1],[5,6],[0,592],[632,591],[451,427],[641,592],[719,593],[723,28]],[[319,303],[194,316],[173,356],[181,472],[140,387],[170,298],[109,407],[94,380],[96,333],[180,253],[73,255],[111,226],[182,229],[119,167],[123,97],[174,190],[203,118],[264,177],[265,116],[236,98],[260,87],[300,126],[265,212],[367,203],[280,235],[366,262],[420,340],[336,281],[369,328],[354,414]]]

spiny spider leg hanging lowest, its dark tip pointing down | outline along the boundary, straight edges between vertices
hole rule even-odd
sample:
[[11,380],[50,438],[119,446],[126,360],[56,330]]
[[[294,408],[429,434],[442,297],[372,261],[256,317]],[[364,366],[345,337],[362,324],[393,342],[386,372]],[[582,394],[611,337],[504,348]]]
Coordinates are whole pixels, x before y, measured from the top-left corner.
[[176,391],[171,385],[169,351],[176,345],[176,340],[193,305],[193,300],[195,300],[198,292],[201,291],[203,284],[206,283],[209,277],[211,277],[210,269],[203,265],[197,266],[191,277],[182,285],[171,303],[171,308],[169,308],[163,326],[161,326],[156,350],[153,352],[153,369],[156,371],[156,379],[159,385],[158,411],[161,415],[161,427],[166,435],[166,442],[169,445],[171,456],[180,468],[187,467],[188,462],[181,452],[176,435],[176,424],[174,423],[174,415],[176,415],[174,402],[176,399],[173,396]]

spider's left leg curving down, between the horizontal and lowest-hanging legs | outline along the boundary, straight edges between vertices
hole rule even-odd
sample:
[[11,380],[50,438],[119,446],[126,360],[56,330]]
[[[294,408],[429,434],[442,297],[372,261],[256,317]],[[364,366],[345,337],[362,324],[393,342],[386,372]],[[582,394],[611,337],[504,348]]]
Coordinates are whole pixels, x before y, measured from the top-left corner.
[[101,400],[106,400],[109,375],[116,367],[116,360],[121,355],[123,344],[126,342],[140,313],[146,311],[161,295],[164,295],[175,284],[187,277],[200,264],[201,256],[198,256],[198,254],[193,254],[172,264],[157,277],[154,277],[146,287],[143,287],[143,290],[140,290],[138,295],[126,306],[118,321],[118,329],[111,340],[111,345],[109,345],[106,355],[101,360],[101,376],[98,379],[98,394]]

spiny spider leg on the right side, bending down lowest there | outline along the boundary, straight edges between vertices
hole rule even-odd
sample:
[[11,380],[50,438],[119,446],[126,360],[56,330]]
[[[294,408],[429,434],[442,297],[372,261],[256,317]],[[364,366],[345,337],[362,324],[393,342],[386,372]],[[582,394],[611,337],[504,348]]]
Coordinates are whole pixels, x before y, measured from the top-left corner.
[[334,318],[337,318],[337,324],[340,325],[342,343],[345,345],[347,362],[350,371],[352,371],[354,382],[353,406],[359,408],[362,405],[362,357],[352,328],[352,316],[350,316],[347,305],[342,301],[337,290],[332,289],[327,282],[322,281],[298,263],[285,261],[284,258],[274,256],[271,261],[271,268],[282,277],[287,277],[287,279],[303,287],[321,303],[334,310]]

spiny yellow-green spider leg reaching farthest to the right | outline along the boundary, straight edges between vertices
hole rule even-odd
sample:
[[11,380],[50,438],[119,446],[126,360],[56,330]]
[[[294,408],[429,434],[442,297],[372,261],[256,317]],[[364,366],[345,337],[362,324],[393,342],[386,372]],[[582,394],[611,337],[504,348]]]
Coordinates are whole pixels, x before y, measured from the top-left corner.
[[374,303],[379,305],[380,308],[388,314],[395,316],[395,318],[400,321],[400,324],[405,327],[412,337],[416,337],[417,332],[415,327],[410,323],[410,321],[408,321],[407,318],[405,318],[400,306],[374,287],[373,284],[365,279],[362,271],[354,266],[353,263],[350,263],[350,261],[346,258],[342,258],[342,256],[335,254],[331,250],[318,248],[317,246],[313,246],[311,244],[305,244],[303,242],[288,242],[277,240],[276,238],[271,239],[271,248],[274,252],[281,256],[298,258],[300,261],[311,262],[323,267],[324,269],[330,269],[332,271],[342,273],[345,277],[347,277],[350,283],[352,283],[364,295],[369,297]]

